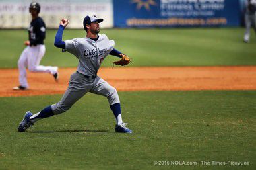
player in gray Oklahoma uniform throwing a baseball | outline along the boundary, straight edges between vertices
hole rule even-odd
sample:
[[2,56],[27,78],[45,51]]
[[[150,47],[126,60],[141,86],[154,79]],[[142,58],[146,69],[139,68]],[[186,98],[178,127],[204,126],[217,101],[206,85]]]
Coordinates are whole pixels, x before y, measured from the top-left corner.
[[127,65],[130,60],[128,56],[114,49],[115,43],[113,40],[109,40],[104,34],[98,34],[100,32],[100,22],[103,22],[103,19],[99,19],[95,15],[86,16],[83,22],[86,37],[63,42],[63,30],[69,24],[69,20],[61,19],[59,30],[55,36],[55,46],[77,57],[79,60],[77,71],[71,75],[69,87],[61,101],[49,105],[34,115],[30,111],[26,112],[18,126],[19,132],[24,132],[40,119],[66,112],[88,92],[103,95],[108,99],[110,108],[116,118],[115,132],[132,132],[123,123],[117,90],[97,75],[102,61],[108,54],[121,58],[119,62],[114,62],[117,65]]

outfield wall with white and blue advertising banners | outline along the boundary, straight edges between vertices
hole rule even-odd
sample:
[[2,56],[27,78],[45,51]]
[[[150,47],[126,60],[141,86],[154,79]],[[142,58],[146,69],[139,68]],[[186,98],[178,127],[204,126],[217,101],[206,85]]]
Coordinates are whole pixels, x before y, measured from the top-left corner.
[[[0,0],[0,28],[28,28],[32,0]],[[240,26],[245,0],[37,0],[47,28],[63,17],[83,28],[86,15],[104,18],[102,28]]]

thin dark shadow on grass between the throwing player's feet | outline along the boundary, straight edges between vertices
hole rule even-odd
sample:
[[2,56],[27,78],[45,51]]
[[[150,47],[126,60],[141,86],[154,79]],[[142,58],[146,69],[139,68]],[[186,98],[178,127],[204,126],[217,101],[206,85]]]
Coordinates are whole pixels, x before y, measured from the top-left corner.
[[100,132],[100,133],[113,133],[108,130],[55,130],[55,131],[28,131],[29,133],[73,133],[73,132]]

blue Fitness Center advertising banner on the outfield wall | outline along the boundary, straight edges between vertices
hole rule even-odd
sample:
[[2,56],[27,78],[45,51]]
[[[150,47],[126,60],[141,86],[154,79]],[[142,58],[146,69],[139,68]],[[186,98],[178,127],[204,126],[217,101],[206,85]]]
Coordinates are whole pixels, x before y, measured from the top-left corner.
[[113,0],[116,27],[239,26],[240,0]]

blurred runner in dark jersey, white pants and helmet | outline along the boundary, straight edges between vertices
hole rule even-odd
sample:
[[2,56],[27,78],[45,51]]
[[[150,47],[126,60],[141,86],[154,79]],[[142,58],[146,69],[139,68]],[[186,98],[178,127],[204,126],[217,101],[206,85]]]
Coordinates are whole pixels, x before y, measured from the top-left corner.
[[45,54],[44,38],[46,34],[46,26],[41,17],[39,3],[30,3],[29,11],[32,15],[32,21],[28,28],[28,41],[24,44],[27,46],[18,60],[19,69],[19,83],[17,87],[13,87],[14,90],[26,90],[28,89],[28,81],[26,76],[26,67],[32,72],[51,73],[55,81],[59,81],[58,67],[42,66],[39,65],[42,57]]

